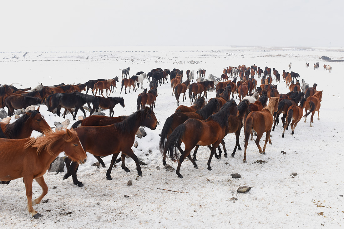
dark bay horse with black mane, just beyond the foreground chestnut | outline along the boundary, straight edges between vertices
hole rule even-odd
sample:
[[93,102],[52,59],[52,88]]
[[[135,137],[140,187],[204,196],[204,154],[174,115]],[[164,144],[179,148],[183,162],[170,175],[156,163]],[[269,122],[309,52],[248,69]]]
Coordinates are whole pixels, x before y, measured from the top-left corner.
[[[157,124],[158,120],[152,109],[145,107],[144,109],[128,116],[120,123],[115,123],[109,126],[82,126],[76,128],[75,131],[78,134],[85,152],[92,153],[94,156],[99,157],[113,154],[111,164],[106,173],[106,179],[112,180],[111,170],[120,152],[131,157],[135,161],[137,173],[139,176],[142,176],[139,160],[131,147],[134,144],[135,134],[140,126],[146,126],[154,130],[157,128]],[[68,172],[65,174],[63,179],[67,179],[72,175],[74,184],[82,187],[83,183],[78,181],[76,178],[78,164],[75,162],[71,163],[69,158],[65,158],[65,162]],[[122,168],[126,172],[130,171],[125,167],[123,161]]]

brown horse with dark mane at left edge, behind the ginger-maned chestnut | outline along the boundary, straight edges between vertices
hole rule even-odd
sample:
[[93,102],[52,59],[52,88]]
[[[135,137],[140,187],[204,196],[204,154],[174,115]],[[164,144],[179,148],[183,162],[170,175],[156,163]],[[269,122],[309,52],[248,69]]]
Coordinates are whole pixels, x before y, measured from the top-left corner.
[[51,131],[49,124],[47,124],[39,110],[40,108],[37,108],[35,111],[26,112],[11,124],[0,122],[3,133],[7,138],[21,139],[30,137],[32,130],[39,131],[40,133]]

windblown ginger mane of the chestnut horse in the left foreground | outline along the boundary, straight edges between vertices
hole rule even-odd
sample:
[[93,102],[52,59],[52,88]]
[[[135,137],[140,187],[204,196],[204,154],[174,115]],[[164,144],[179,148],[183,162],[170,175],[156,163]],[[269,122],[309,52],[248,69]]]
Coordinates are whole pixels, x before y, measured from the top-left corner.
[[50,155],[54,155],[52,148],[55,146],[56,142],[61,140],[61,138],[67,142],[71,142],[78,136],[75,130],[70,130],[71,134],[69,136],[66,135],[66,131],[67,130],[65,129],[56,130],[56,132],[46,132],[44,133],[45,136],[39,138],[30,138],[25,147],[36,147],[37,155],[39,155],[42,150],[45,150]]

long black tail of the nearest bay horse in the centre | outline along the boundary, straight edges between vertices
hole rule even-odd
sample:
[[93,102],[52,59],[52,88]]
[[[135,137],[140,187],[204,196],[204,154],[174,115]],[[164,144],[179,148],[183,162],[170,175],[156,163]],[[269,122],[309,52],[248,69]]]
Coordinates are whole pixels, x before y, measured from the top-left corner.
[[178,151],[177,151],[177,146],[180,141],[180,138],[183,137],[185,131],[185,125],[180,124],[177,128],[175,128],[170,134],[169,139],[166,141],[166,146],[164,149],[164,154],[167,153],[168,151],[168,157],[172,161],[179,161],[178,159]]

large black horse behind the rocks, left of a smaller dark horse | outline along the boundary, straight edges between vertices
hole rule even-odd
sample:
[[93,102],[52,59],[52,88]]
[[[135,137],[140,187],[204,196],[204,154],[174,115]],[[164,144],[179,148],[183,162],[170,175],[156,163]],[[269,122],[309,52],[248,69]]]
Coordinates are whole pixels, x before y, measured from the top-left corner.
[[[99,100],[97,97],[92,95],[83,94],[80,92],[74,92],[74,93],[56,93],[49,95],[49,97],[46,99],[45,105],[48,107],[48,111],[52,112],[55,108],[57,108],[57,115],[60,116],[61,107],[64,107],[66,110],[69,109],[69,111],[72,113],[72,108],[75,107],[75,114],[73,115],[73,120],[76,120],[76,113],[80,109],[84,115],[86,116],[86,112],[83,108],[83,106],[86,103],[92,103],[93,108],[90,111],[90,115],[93,114],[93,112],[99,107]],[[64,113],[64,116],[66,116],[66,110]]]

